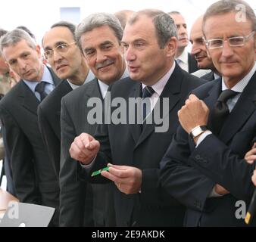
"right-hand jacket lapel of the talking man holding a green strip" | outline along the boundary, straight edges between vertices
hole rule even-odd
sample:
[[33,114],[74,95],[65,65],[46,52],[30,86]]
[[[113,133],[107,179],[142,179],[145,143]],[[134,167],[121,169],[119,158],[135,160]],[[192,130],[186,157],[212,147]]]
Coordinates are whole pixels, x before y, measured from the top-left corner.
[[[170,115],[171,110],[173,107],[175,107],[176,103],[180,101],[180,92],[181,92],[181,84],[183,82],[183,73],[180,71],[180,67],[176,64],[176,67],[173,71],[173,74],[170,76],[170,79],[168,80],[167,84],[164,87],[163,92],[161,93],[160,98],[158,99],[158,104],[155,105],[155,108],[160,108],[160,113],[162,113],[162,107],[163,107],[163,98],[169,98],[169,112],[166,114]],[[154,116],[154,111],[151,113],[151,116]],[[163,117],[166,118],[166,116]],[[146,138],[151,134],[151,132],[155,131],[156,126],[162,126],[162,123],[156,124],[154,123],[154,119],[152,124],[145,125],[145,128],[143,129],[142,135],[139,137],[139,141],[136,144],[136,147],[139,146],[143,141],[145,141]]]

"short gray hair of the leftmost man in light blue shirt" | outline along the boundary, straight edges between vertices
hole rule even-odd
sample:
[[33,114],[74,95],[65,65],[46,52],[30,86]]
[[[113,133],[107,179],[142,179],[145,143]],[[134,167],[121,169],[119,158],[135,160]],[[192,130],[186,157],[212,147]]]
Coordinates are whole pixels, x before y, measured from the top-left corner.
[[0,38],[1,52],[5,47],[14,46],[18,42],[25,40],[30,48],[36,49],[36,41],[23,29],[14,29]]

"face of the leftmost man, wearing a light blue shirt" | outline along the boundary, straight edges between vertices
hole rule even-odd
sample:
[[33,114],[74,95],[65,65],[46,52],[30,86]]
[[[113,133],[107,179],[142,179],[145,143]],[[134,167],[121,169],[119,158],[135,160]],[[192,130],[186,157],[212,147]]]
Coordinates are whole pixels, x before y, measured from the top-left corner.
[[39,82],[42,79],[43,64],[39,45],[31,48],[26,40],[22,39],[16,45],[9,45],[2,51],[9,67],[30,82]]

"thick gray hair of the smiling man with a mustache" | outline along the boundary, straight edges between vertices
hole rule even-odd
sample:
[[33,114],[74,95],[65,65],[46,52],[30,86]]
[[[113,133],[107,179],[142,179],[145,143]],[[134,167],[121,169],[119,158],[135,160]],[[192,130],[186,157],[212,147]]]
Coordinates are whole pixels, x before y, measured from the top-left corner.
[[101,26],[109,26],[114,35],[117,37],[118,42],[120,43],[123,38],[123,28],[114,14],[108,13],[96,13],[91,14],[86,17],[77,27],[76,27],[76,42],[80,49],[83,51],[80,39],[84,33],[92,31],[92,29],[101,27]]

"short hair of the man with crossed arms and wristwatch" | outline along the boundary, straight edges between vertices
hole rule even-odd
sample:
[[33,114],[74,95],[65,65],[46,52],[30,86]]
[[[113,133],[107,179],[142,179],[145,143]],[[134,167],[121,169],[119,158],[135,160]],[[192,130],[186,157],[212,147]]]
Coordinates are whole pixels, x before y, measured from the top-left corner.
[[240,11],[240,9],[236,9],[238,5],[245,6],[245,16],[248,20],[251,21],[252,31],[256,30],[255,13],[247,2],[244,2],[242,0],[220,0],[218,2],[215,2],[206,10],[203,18],[203,33],[205,21],[208,20],[209,17],[221,14],[228,14],[230,12],[238,12]]

